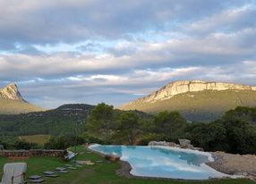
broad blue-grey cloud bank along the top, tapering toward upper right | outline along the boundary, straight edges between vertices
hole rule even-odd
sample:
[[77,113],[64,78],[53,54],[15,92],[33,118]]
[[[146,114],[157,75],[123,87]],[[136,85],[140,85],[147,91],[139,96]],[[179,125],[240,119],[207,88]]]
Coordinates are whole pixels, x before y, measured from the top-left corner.
[[[116,39],[148,29],[165,29],[173,22],[200,20],[229,5],[250,1],[160,0],[57,0],[35,2],[10,0],[0,3],[0,34],[5,43],[47,45],[75,43],[84,39]],[[196,11],[196,13],[195,13]],[[250,20],[253,20],[251,18]]]

